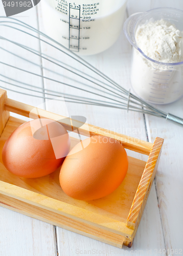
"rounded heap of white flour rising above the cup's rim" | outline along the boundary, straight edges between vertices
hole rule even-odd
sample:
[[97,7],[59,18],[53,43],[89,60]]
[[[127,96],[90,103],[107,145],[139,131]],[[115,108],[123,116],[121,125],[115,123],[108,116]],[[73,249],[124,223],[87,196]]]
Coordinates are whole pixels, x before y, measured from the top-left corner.
[[156,20],[136,31],[139,48],[151,59],[173,63],[183,61],[183,33],[166,20]]

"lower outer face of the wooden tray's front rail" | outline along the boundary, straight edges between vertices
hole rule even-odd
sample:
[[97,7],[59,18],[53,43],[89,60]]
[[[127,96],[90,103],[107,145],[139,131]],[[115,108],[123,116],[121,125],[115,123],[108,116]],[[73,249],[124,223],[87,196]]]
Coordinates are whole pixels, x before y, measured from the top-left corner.
[[[81,221],[75,221],[63,215],[56,214],[55,212],[1,194],[0,206],[119,248],[122,248],[123,242],[125,241],[125,238],[119,234],[94,227]],[[125,244],[129,244],[128,239]]]

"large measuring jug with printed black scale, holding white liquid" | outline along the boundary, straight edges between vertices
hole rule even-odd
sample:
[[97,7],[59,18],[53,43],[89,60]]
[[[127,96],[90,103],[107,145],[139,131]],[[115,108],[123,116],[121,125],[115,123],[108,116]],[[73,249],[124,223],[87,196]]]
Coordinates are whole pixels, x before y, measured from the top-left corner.
[[47,34],[79,55],[105,51],[123,28],[127,0],[42,0]]

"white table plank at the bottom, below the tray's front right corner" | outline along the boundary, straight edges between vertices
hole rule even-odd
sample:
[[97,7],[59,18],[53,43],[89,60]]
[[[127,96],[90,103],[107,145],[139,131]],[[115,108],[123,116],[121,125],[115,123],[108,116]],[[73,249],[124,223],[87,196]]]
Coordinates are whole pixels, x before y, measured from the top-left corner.
[[161,220],[157,212],[157,198],[153,185],[131,248],[126,246],[123,246],[122,249],[116,248],[57,227],[58,251],[62,256],[76,256],[84,253],[89,255],[90,252],[88,251],[91,251],[94,255],[106,256],[132,254],[156,255],[156,250],[165,249]]

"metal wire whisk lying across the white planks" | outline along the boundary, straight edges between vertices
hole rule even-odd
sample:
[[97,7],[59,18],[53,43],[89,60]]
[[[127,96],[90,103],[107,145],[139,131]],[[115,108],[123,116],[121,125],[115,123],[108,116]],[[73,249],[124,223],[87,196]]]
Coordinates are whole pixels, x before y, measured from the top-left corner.
[[[66,93],[63,93],[63,92],[61,93],[61,92],[57,92],[57,91],[54,91],[54,90],[39,88],[39,87],[33,86],[29,83],[18,81],[16,79],[13,79],[13,78],[10,78],[10,77],[7,77],[5,75],[0,74],[4,78],[10,79],[15,83],[7,82],[6,80],[0,80],[1,82],[5,82],[5,83],[9,84],[9,86],[13,86],[13,87],[16,87],[16,88],[19,88],[19,89],[28,90],[29,92],[33,92],[34,94],[31,95],[29,93],[21,92],[19,90],[15,91],[11,88],[8,88],[8,90],[13,91],[13,92],[22,93],[22,94],[29,95],[29,96],[43,98],[43,99],[53,99],[53,97],[58,97],[58,98],[56,98],[56,100],[63,100],[63,98],[60,97],[60,96],[63,96],[64,100],[66,102],[89,104],[89,105],[96,105],[96,106],[107,106],[107,107],[110,107],[110,108],[117,108],[117,109],[127,110],[127,112],[128,111],[134,111],[134,112],[150,114],[150,115],[154,115],[154,116],[157,116],[157,117],[166,118],[167,120],[170,120],[174,123],[178,123],[179,125],[183,126],[181,118],[178,118],[178,117],[176,117],[174,115],[171,115],[171,114],[167,114],[167,113],[155,108],[155,106],[147,103],[143,99],[140,99],[139,97],[135,96],[134,94],[132,94],[130,92],[130,90],[128,91],[125,88],[123,88],[122,86],[120,86],[120,84],[113,81],[111,78],[106,76],[104,73],[99,71],[97,68],[93,67],[89,62],[82,59],[76,53],[71,52],[65,46],[61,45],[59,42],[57,42],[53,38],[49,37],[48,35],[45,35],[44,33],[40,32],[39,30],[31,27],[30,25],[28,25],[28,24],[26,24],[26,23],[24,23],[21,20],[18,20],[16,18],[0,16],[0,19],[1,18],[4,18],[5,20],[0,21],[0,26],[4,26],[4,27],[9,28],[9,29],[14,29],[14,30],[16,30],[20,33],[26,34],[27,36],[31,36],[31,38],[39,40],[44,44],[47,44],[49,47],[54,48],[56,51],[59,51],[59,52],[65,54],[65,55],[67,55],[68,57],[71,57],[73,60],[77,61],[77,63],[81,64],[84,68],[87,68],[89,71],[94,72],[94,74],[98,75],[100,77],[100,79],[98,79],[94,76],[91,76],[91,75],[89,75],[88,73],[86,73],[84,71],[76,69],[75,67],[73,67],[71,65],[67,65],[66,63],[54,58],[53,56],[49,56],[48,54],[41,53],[40,51],[37,51],[37,50],[35,50],[31,47],[25,46],[23,44],[19,44],[18,42],[14,41],[14,40],[10,40],[10,39],[0,35],[0,39],[6,40],[6,41],[10,42],[13,45],[18,46],[21,49],[24,49],[24,50],[30,52],[31,54],[34,54],[34,55],[40,57],[41,60],[44,59],[45,61],[49,61],[53,65],[56,65],[57,67],[65,70],[67,72],[72,73],[76,77],[82,78],[82,79],[84,79],[84,81],[93,84],[93,86],[80,81],[80,84],[82,84],[82,86],[85,86],[85,87],[88,87],[88,88],[91,89],[91,91],[89,91],[89,90],[86,90],[84,88],[74,86],[73,84],[66,83],[66,82],[60,81],[58,79],[54,79],[54,78],[45,76],[43,74],[40,75],[40,74],[37,74],[35,72],[29,71],[29,70],[26,70],[26,69],[22,69],[22,68],[19,68],[19,67],[15,67],[13,65],[10,65],[9,63],[5,63],[3,61],[0,61],[0,63],[2,65],[10,67],[10,68],[14,68],[14,69],[16,69],[18,71],[21,71],[21,72],[29,73],[33,76],[38,76],[42,79],[48,79],[52,82],[62,84],[62,86],[71,87],[73,89],[84,91],[84,92],[89,93],[91,95],[95,95],[99,98],[101,98],[101,97],[103,99],[105,98],[105,101],[101,100],[101,99],[81,97],[81,96],[76,96],[76,95],[73,95],[73,94],[66,94]],[[19,27],[15,27],[15,26],[19,26]],[[24,29],[24,30],[22,30],[21,28]],[[26,31],[26,29],[28,31]],[[33,33],[36,33],[36,35],[33,34]],[[54,45],[54,44],[56,44],[57,46]],[[24,58],[24,57],[22,57],[22,56],[20,56],[16,53],[13,53],[13,52],[3,48],[3,47],[0,47],[0,49],[4,50],[4,51],[6,51],[10,54],[13,54],[15,57],[18,57],[21,60],[28,61],[32,65],[40,67],[44,71],[49,71],[49,72],[52,72],[52,74],[61,75],[60,73],[58,73],[56,71],[53,71],[52,69],[43,67],[43,65],[39,65],[36,62],[31,61],[29,59],[26,59],[26,58]],[[62,76],[64,78],[68,78],[63,74],[62,74]],[[79,82],[78,80],[75,80],[72,77],[69,77],[68,79],[71,79],[74,82]],[[101,79],[104,79],[105,82],[102,81]],[[109,84],[106,83],[106,82],[108,82]],[[17,83],[21,84],[21,86],[18,85]],[[2,87],[2,88],[7,89],[5,87]],[[95,92],[95,90],[100,92],[100,94]],[[35,93],[42,94],[42,96],[41,95],[35,95]]]

